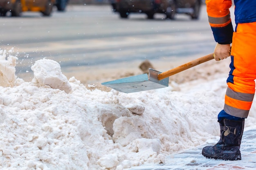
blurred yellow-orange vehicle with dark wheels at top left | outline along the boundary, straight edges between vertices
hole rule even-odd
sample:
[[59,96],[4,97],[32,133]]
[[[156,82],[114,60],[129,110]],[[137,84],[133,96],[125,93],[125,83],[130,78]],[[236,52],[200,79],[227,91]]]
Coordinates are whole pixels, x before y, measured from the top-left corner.
[[41,12],[44,16],[50,16],[55,0],[0,0],[0,15],[6,16],[8,11],[11,16],[20,16],[22,12]]

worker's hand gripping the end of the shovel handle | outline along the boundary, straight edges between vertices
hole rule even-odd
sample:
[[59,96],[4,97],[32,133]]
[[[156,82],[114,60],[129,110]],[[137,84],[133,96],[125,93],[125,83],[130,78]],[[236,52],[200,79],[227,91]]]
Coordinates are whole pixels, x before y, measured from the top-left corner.
[[216,44],[214,49],[214,59],[216,61],[224,60],[230,56],[231,48],[230,44]]

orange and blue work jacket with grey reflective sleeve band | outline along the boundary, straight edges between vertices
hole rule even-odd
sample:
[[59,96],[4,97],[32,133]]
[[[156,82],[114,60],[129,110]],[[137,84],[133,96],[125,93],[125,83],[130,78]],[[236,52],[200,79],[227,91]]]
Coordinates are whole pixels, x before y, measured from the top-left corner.
[[[206,0],[209,23],[214,39],[219,44],[231,44],[233,26],[229,8],[232,0]],[[256,0],[234,0],[235,22],[256,22]]]

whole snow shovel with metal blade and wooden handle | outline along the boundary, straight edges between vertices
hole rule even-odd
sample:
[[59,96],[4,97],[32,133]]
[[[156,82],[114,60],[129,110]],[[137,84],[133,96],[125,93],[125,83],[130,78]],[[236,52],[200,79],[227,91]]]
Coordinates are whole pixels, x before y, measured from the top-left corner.
[[173,68],[171,70],[165,71],[163,73],[156,71],[152,68],[149,68],[149,74],[145,73],[142,75],[135,75],[131,77],[117,79],[110,82],[104,82],[101,84],[123,93],[133,93],[133,92],[147,91],[147,90],[152,90],[157,88],[168,87],[169,76],[174,75],[176,73],[180,73],[181,71],[184,71],[198,64],[212,60],[213,58],[214,57],[212,53],[204,57],[195,59],[186,64],[183,64],[181,66],[178,66],[176,68]]

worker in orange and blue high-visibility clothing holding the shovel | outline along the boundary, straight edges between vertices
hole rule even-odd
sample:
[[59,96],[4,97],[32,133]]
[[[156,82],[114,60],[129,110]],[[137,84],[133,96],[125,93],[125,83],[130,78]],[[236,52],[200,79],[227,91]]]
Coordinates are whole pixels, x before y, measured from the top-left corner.
[[[240,160],[240,144],[245,118],[255,93],[256,79],[256,1],[206,0],[207,14],[213,37],[217,42],[215,60],[230,56],[230,72],[223,110],[218,114],[220,140],[202,149],[207,158]],[[235,9],[233,27],[229,9]],[[232,48],[231,48],[232,46]]]

